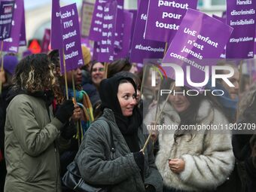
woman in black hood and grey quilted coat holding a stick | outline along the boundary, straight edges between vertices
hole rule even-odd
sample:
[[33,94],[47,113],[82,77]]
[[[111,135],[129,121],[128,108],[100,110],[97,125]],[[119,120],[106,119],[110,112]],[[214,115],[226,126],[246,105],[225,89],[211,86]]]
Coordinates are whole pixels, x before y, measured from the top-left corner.
[[110,185],[111,191],[162,191],[152,144],[145,154],[140,151],[147,135],[136,107],[133,79],[116,76],[102,80],[99,95],[103,114],[87,130],[75,158],[82,178],[90,184]]

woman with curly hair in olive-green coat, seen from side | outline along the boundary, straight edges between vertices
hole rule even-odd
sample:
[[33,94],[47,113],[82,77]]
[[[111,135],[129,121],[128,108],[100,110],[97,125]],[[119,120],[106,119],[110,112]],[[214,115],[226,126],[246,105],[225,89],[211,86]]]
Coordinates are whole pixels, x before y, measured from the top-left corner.
[[5,192],[61,191],[56,139],[74,104],[64,102],[53,117],[54,86],[46,54],[26,56],[17,65],[5,123]]

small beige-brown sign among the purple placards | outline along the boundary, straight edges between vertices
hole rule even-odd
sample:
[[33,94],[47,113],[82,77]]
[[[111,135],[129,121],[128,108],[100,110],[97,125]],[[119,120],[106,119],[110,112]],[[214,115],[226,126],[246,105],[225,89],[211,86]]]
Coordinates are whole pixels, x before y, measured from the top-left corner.
[[82,16],[81,16],[81,35],[82,37],[88,37],[90,32],[90,26],[93,18],[94,4],[83,1]]

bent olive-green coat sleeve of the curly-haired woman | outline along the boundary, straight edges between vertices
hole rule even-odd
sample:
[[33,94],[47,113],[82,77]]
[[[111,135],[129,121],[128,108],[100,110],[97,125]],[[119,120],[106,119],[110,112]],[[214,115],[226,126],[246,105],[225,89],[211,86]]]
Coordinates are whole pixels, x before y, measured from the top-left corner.
[[16,99],[10,105],[8,120],[15,136],[27,154],[37,157],[57,138],[62,123],[53,118],[46,126],[40,127],[28,101],[24,99],[17,101]]

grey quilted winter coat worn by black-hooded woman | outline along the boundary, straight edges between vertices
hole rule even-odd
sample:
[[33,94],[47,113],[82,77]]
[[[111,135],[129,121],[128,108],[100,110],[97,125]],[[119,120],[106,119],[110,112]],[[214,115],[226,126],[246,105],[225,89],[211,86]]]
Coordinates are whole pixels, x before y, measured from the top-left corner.
[[[109,126],[114,139],[114,160],[111,160]],[[141,126],[138,130],[140,148],[143,147],[148,136],[144,133]],[[90,184],[111,184],[113,192],[143,192],[146,184],[153,185],[159,192],[163,189],[163,179],[154,164],[152,143],[150,142],[145,150],[145,182],[143,182],[133,153],[130,152],[117,127],[113,111],[108,108],[105,108],[102,117],[93,122],[87,130],[75,161],[84,181]]]

